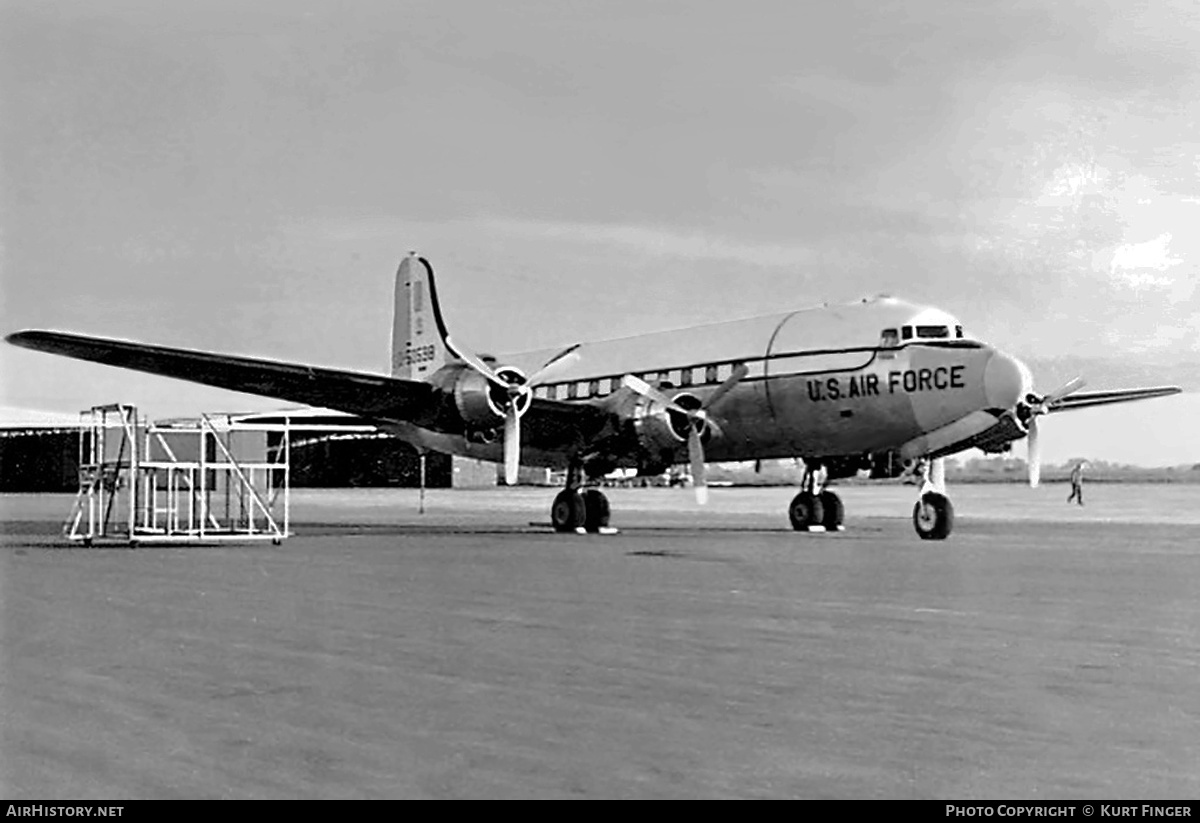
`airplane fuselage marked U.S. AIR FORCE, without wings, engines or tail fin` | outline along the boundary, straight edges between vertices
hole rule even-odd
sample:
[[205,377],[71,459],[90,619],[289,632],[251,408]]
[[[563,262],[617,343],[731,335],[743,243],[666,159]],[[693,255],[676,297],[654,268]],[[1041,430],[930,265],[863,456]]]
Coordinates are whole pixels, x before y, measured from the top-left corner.
[[[529,373],[552,354],[496,361]],[[713,431],[706,438],[712,461],[901,449],[974,413],[994,409],[998,415],[1016,402],[1024,383],[1013,359],[964,337],[949,314],[894,298],[587,343],[576,354],[534,395],[598,406],[628,419],[630,431],[612,433],[606,457],[614,465],[642,459],[656,468],[686,458],[683,432],[664,427],[670,420],[661,408],[623,388],[625,374],[677,402],[690,396],[703,403],[744,365],[745,377],[713,408]],[[968,433],[994,422],[995,416],[979,419]],[[439,428],[406,425],[397,434],[442,451],[500,458],[496,426]],[[630,438],[642,447],[629,447]],[[574,456],[526,446],[521,457],[526,464],[562,468]]]

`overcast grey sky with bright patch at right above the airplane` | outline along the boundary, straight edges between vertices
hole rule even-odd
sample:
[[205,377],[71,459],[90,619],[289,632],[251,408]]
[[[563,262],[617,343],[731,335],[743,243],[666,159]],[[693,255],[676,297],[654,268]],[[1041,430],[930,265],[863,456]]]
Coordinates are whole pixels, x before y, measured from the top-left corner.
[[0,10],[5,334],[385,371],[415,248],[488,352],[890,292],[1022,356],[1200,358],[1193,0]]

